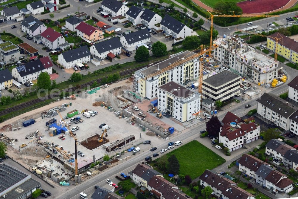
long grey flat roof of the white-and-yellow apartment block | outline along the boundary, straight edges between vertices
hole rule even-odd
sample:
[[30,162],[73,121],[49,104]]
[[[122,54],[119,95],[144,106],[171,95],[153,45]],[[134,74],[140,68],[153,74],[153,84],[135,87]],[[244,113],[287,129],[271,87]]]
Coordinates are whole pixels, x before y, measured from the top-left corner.
[[140,71],[140,73],[144,74],[145,76],[151,75],[153,73],[158,72],[159,70],[162,70],[164,68],[167,68],[169,65],[173,64],[174,62],[178,61],[179,59],[186,59],[187,57],[190,57],[192,55],[195,55],[194,52],[190,52],[189,50],[181,52],[179,54],[176,54],[169,59],[166,59],[162,62],[159,62],[153,66],[150,66],[148,68],[145,68],[144,70]]

